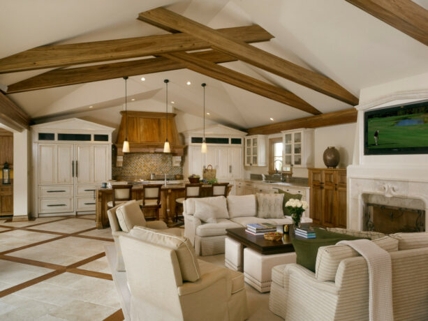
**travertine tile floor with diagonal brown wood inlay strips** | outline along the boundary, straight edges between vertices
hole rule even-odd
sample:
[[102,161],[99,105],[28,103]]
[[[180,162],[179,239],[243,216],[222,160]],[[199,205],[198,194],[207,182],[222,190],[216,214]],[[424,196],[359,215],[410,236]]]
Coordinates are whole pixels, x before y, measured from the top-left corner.
[[[6,222],[0,218],[0,320],[123,320],[94,215]],[[200,257],[224,266],[224,255]],[[249,320],[281,320],[269,294],[246,285]]]

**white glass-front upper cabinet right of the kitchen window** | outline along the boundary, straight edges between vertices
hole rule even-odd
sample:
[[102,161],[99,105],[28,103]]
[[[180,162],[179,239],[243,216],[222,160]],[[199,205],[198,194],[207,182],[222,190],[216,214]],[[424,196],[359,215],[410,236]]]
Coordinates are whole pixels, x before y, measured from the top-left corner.
[[313,129],[284,130],[283,167],[313,166]]

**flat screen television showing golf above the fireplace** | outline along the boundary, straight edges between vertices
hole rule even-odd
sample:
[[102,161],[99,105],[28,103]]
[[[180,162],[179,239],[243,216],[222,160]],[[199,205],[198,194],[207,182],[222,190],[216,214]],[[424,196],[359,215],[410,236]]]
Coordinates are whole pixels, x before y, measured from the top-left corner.
[[364,113],[364,155],[428,154],[428,100]]

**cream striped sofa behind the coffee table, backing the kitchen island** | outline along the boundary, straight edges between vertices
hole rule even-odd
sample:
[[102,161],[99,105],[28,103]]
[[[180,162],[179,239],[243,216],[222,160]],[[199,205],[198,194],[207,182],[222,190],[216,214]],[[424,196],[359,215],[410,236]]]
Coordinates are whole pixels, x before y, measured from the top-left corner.
[[[205,197],[220,198],[219,197]],[[224,197],[223,197],[224,198]],[[183,203],[184,235],[195,247],[198,255],[216,255],[225,252],[226,229],[246,227],[253,223],[272,223],[276,225],[291,224],[290,216],[280,218],[258,217],[258,200],[256,195],[229,195],[226,199],[228,218],[220,218],[216,223],[205,223],[195,217],[195,202],[200,199],[189,198]],[[311,222],[311,218],[302,217],[302,222]]]

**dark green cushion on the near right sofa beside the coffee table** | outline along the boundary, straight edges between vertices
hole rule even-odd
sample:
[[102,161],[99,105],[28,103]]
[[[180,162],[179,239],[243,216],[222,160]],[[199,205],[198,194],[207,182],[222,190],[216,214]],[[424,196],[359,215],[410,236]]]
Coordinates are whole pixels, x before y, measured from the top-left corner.
[[337,244],[341,239],[293,239],[293,247],[296,252],[296,263],[315,272],[316,255],[318,248]]

